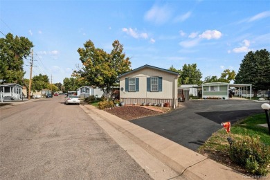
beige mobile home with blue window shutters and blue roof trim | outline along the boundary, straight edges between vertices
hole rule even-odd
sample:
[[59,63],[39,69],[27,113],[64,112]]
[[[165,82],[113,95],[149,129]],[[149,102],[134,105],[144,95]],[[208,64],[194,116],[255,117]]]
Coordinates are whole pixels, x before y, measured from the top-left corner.
[[168,102],[177,107],[177,82],[179,73],[144,65],[122,75],[120,101],[125,105],[159,104]]

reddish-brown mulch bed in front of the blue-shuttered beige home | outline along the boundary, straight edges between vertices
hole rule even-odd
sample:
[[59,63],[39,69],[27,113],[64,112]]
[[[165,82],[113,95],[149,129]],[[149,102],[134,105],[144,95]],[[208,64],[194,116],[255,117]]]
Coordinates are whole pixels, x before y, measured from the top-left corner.
[[145,109],[144,107],[140,107],[140,106],[123,106],[123,107],[121,106],[121,107],[104,109],[104,111],[107,111],[110,114],[114,114],[115,116],[118,116],[119,118],[123,118],[124,120],[134,120],[137,118],[163,114],[159,111]]

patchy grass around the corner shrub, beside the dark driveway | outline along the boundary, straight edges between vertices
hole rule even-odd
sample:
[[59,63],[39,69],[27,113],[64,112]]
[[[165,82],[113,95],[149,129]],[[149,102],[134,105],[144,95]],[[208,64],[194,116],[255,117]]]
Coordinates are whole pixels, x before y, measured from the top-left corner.
[[227,138],[231,136],[233,141],[237,141],[245,138],[246,136],[259,138],[262,143],[270,146],[270,135],[268,127],[261,127],[260,124],[267,123],[265,114],[255,114],[249,116],[243,120],[231,126],[231,132],[226,133],[225,129],[212,134],[210,138],[199,147],[198,152],[208,156],[209,159],[213,159],[219,163],[227,165],[239,172],[246,173],[243,167],[233,163],[229,157],[230,145],[228,144]]

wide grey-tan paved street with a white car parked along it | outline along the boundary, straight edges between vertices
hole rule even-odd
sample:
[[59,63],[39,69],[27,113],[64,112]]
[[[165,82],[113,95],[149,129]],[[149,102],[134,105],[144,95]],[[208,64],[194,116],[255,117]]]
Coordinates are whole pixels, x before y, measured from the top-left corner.
[[0,179],[151,179],[63,96],[0,109]]

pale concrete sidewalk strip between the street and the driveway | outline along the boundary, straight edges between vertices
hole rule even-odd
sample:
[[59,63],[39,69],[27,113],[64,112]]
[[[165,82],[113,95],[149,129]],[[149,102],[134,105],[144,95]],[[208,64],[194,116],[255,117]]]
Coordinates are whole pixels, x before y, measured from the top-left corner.
[[243,174],[232,170],[220,163],[206,158],[197,152],[189,150],[173,141],[154,134],[143,127],[129,123],[93,107],[84,105],[100,115],[110,125],[128,136],[132,141],[143,147],[144,150],[168,165],[186,179],[243,179]]

